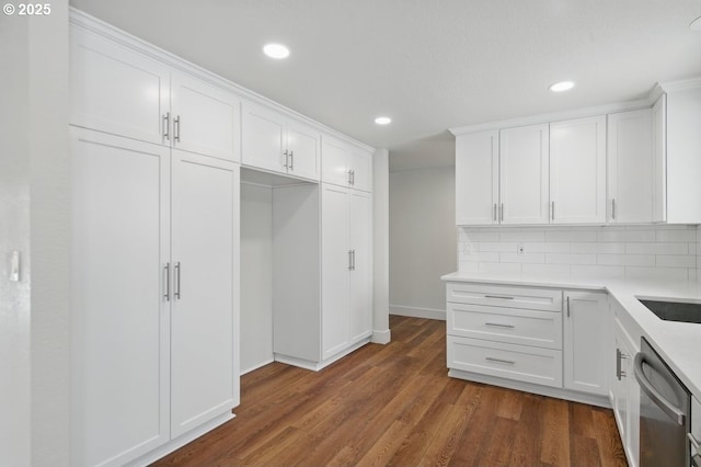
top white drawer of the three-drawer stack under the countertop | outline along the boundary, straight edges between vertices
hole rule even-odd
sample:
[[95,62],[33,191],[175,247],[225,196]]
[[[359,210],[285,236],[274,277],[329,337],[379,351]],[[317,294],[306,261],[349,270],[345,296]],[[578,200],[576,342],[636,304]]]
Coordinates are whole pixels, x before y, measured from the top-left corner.
[[447,300],[543,311],[562,311],[562,291],[449,282]]

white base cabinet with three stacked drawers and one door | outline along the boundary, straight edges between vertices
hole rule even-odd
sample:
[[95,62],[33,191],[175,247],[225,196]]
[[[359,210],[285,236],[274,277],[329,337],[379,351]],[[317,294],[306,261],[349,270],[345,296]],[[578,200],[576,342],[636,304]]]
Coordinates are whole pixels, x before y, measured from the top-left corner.
[[451,376],[606,403],[606,294],[449,282],[446,295]]

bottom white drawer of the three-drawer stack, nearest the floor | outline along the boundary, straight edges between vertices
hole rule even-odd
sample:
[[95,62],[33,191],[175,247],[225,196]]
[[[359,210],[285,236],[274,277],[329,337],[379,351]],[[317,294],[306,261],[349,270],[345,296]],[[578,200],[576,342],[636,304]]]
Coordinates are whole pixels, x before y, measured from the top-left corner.
[[562,352],[448,335],[448,367],[562,387]]

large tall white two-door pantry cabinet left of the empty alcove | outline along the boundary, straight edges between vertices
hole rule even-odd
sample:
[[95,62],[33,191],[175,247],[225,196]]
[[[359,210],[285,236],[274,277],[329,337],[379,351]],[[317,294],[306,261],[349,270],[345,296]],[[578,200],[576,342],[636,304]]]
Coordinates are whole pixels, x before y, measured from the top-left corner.
[[70,132],[71,458],[124,465],[239,403],[239,168]]

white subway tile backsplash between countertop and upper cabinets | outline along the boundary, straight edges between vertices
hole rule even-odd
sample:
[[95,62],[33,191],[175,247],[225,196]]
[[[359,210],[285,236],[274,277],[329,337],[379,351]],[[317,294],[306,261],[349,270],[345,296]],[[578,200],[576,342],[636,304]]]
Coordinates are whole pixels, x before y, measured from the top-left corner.
[[700,260],[699,226],[458,228],[467,272],[701,281]]

